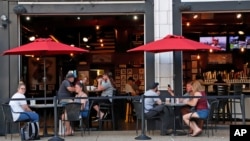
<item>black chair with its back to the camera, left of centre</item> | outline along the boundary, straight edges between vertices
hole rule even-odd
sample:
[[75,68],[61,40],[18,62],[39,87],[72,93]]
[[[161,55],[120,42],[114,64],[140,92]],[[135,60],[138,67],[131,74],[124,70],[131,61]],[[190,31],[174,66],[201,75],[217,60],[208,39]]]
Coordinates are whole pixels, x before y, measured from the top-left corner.
[[[76,102],[70,102],[65,104],[64,106],[64,119],[62,119],[62,122],[69,121],[70,125],[72,126],[72,129],[74,129],[74,124],[72,124],[73,121],[79,121],[81,122],[82,116],[80,116],[81,112],[81,103]],[[66,114],[65,114],[66,113]],[[82,124],[80,124],[80,128],[82,129]],[[63,128],[63,126],[61,126]],[[62,129],[61,129],[62,130]],[[83,132],[81,130],[81,136],[83,136]],[[64,132],[65,137],[65,132]]]

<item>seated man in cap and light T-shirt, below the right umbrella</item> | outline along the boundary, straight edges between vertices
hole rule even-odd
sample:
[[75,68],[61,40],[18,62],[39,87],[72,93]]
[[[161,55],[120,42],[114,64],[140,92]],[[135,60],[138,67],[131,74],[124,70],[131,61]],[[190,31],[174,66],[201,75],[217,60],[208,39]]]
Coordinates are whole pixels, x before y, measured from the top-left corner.
[[[173,121],[173,111],[166,106],[159,98],[160,91],[158,90],[159,83],[154,82],[144,93],[144,113],[145,118],[160,116],[162,121],[161,135],[168,135],[168,129],[172,129],[171,122]],[[151,96],[151,97],[150,97]]]

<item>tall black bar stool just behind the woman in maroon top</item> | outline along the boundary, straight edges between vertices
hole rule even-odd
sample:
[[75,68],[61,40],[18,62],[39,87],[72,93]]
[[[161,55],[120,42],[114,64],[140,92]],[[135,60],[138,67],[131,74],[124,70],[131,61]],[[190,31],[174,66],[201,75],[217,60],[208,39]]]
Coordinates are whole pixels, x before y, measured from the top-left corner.
[[[229,95],[229,87],[228,85],[217,85],[216,94],[218,96],[228,96]],[[222,116],[223,123],[225,123],[226,118],[230,121],[232,120],[231,111],[230,111],[230,102],[228,98],[218,98],[219,100],[219,108],[217,114]],[[222,112],[220,112],[222,110]],[[219,116],[219,117],[220,117]]]

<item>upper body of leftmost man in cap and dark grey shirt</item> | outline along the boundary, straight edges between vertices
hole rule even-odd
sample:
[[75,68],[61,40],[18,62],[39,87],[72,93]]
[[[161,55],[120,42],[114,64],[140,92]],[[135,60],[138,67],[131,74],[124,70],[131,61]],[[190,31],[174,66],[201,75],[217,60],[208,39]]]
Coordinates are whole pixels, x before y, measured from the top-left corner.
[[65,80],[63,80],[62,84],[60,85],[58,90],[58,98],[60,104],[72,102],[72,99],[69,98],[72,96],[72,93],[75,92],[75,88],[72,86],[74,80],[74,74],[68,73]]

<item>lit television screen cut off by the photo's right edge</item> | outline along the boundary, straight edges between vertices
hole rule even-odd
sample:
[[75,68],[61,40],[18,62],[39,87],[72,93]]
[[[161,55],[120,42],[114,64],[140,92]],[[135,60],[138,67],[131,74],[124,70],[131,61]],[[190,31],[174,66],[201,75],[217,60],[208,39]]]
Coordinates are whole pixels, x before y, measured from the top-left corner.
[[230,50],[240,49],[242,47],[250,49],[250,36],[229,36]]

